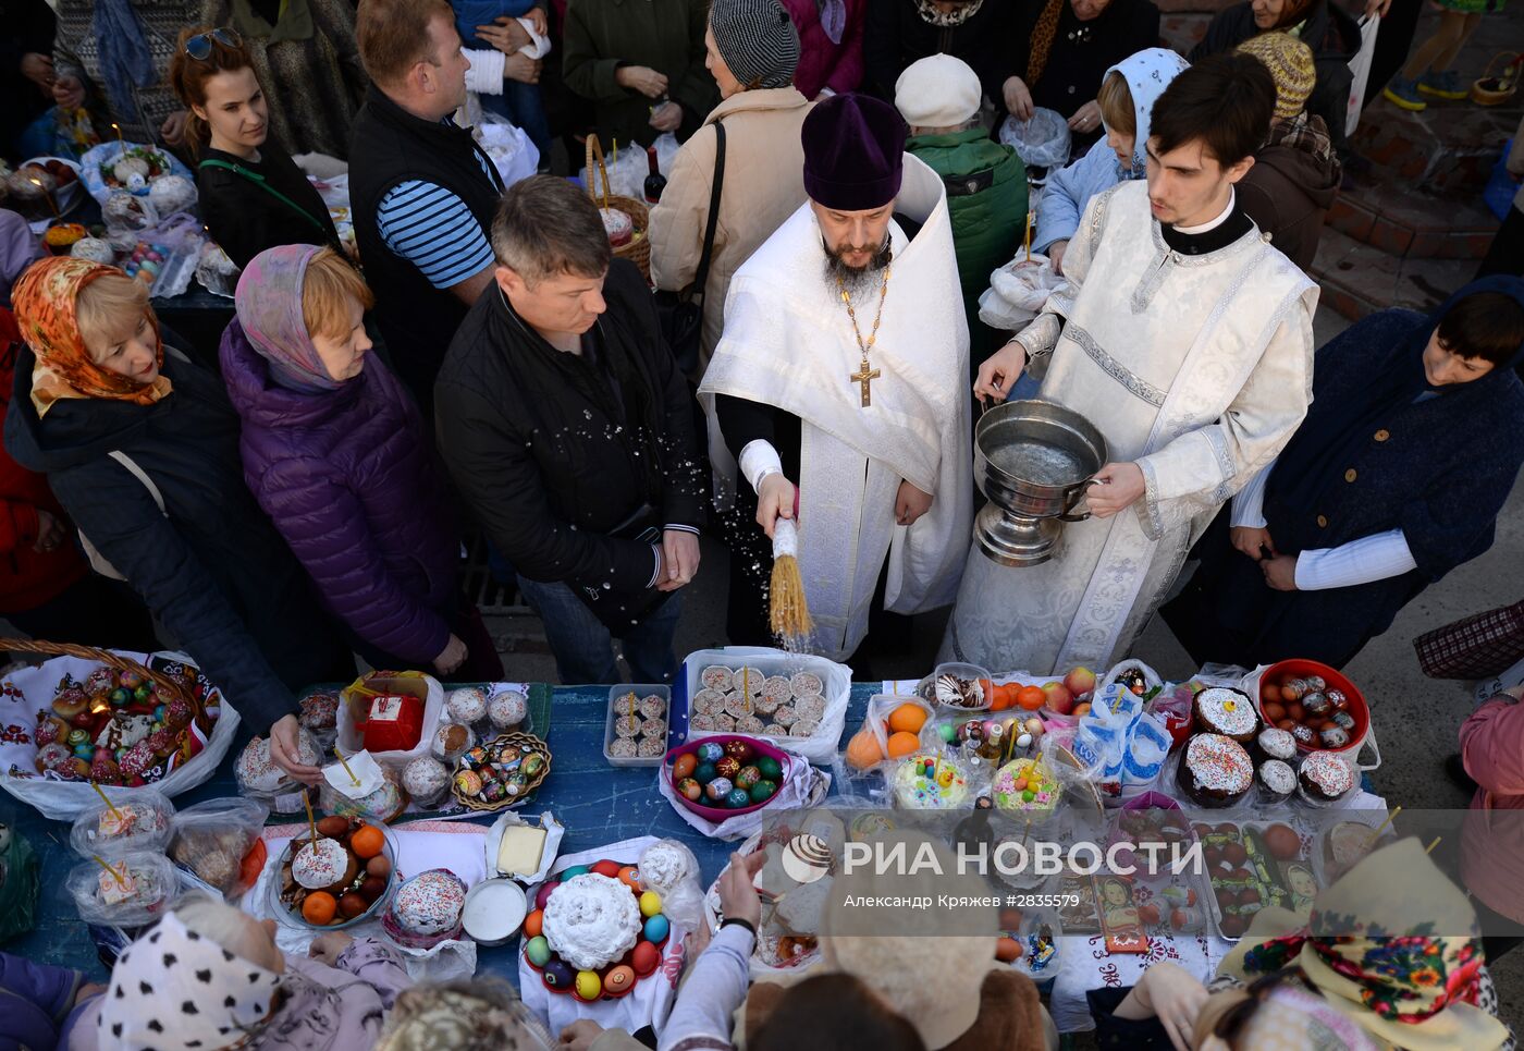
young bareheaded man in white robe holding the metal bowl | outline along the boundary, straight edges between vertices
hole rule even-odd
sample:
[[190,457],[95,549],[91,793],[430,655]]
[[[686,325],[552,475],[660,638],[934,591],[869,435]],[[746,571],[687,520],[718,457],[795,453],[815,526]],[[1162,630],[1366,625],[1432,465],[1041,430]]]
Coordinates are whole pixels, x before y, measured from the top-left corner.
[[1099,427],[1114,462],[1050,561],[969,558],[943,659],[1108,668],[1218,508],[1306,415],[1318,288],[1233,189],[1276,105],[1269,73],[1245,59],[1213,56],[1170,82],[1154,105],[1148,180],[1091,200],[1067,284],[980,369],[975,394],[997,401],[1030,369],[1038,397]]

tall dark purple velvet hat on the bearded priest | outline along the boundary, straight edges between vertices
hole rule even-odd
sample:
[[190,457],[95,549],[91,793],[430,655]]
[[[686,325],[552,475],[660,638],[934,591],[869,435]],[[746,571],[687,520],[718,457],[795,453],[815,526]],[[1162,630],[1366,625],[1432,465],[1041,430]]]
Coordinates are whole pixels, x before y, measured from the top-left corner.
[[817,204],[866,212],[899,194],[908,128],[870,95],[834,95],[805,117],[805,192]]

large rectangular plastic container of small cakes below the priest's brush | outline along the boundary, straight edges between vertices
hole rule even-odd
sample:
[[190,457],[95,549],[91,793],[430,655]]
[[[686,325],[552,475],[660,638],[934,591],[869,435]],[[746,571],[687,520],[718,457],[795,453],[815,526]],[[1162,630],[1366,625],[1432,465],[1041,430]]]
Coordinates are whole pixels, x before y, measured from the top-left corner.
[[846,729],[852,673],[809,654],[767,647],[698,650],[683,662],[687,740],[745,734],[829,766]]

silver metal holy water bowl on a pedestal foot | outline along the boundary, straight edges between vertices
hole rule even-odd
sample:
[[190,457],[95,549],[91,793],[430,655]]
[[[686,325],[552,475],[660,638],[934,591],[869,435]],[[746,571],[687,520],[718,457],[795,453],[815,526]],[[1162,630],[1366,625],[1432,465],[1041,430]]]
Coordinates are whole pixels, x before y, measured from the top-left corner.
[[1064,522],[1106,462],[1106,439],[1082,415],[1055,401],[1007,401],[974,427],[974,482],[989,500],[974,519],[974,540],[1001,566],[1038,566],[1053,557]]

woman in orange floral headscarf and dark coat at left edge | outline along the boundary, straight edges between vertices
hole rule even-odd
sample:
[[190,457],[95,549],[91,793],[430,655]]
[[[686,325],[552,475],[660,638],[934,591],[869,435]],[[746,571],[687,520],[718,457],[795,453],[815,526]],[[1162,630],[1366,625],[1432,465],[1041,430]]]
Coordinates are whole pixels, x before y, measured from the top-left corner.
[[[17,354],[5,442],[47,474],[69,517],[216,682],[293,776],[296,697],[354,657],[244,488],[221,381],[162,340],[148,287],[58,256],[12,293]],[[99,563],[98,563],[99,564]]]

